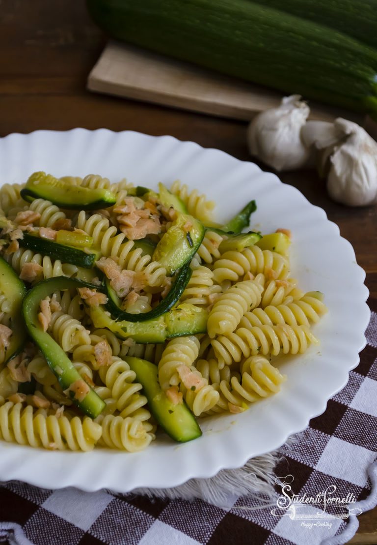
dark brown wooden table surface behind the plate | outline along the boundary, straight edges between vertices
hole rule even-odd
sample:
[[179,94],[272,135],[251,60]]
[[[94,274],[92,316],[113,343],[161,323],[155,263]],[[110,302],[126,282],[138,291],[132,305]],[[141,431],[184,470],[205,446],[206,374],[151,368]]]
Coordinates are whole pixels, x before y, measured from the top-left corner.
[[[73,127],[130,129],[172,135],[250,159],[244,123],[87,92],[86,77],[105,43],[84,2],[2,0],[0,136]],[[281,179],[298,187],[337,223],[367,272],[370,294],[377,297],[377,207],[352,209],[333,203],[323,181],[310,171],[285,173]],[[360,529],[351,543],[377,543],[377,508],[359,520]]]

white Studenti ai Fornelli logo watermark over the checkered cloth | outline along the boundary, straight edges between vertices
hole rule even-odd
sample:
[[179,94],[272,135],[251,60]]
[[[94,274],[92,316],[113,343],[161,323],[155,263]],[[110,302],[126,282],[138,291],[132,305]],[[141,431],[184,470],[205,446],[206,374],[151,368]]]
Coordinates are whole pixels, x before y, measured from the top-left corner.
[[[289,517],[301,520],[301,526],[312,529],[318,526],[331,528],[331,519],[347,519],[351,514],[361,514],[359,507],[353,507],[356,496],[337,494],[336,485],[330,485],[316,495],[294,494],[292,490],[293,475],[276,477],[275,482],[281,487],[281,494],[276,500],[276,507],[271,509],[274,517]],[[313,520],[316,522],[307,522]]]

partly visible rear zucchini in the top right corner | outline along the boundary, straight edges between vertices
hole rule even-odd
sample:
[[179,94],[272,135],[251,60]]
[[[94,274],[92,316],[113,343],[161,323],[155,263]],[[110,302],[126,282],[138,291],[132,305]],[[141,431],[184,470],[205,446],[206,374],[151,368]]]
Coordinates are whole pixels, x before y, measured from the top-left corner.
[[334,28],[370,47],[377,48],[375,0],[254,0],[320,25]]

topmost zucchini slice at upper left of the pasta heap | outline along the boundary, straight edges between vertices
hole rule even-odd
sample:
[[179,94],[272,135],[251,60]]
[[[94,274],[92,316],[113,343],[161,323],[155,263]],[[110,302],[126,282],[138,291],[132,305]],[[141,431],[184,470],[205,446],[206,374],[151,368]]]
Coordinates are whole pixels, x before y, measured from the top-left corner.
[[97,210],[116,203],[116,195],[107,189],[91,189],[67,184],[45,172],[34,172],[21,190],[21,197],[32,202],[42,198],[71,210]]

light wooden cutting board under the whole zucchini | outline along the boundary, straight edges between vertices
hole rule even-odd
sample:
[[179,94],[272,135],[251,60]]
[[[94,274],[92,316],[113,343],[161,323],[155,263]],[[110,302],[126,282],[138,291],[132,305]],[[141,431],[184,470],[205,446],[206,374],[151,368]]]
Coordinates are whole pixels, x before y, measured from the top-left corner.
[[[233,119],[250,120],[280,104],[282,93],[131,45],[110,41],[89,74],[88,89]],[[363,116],[310,103],[311,118]]]

